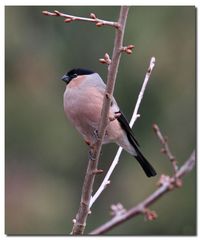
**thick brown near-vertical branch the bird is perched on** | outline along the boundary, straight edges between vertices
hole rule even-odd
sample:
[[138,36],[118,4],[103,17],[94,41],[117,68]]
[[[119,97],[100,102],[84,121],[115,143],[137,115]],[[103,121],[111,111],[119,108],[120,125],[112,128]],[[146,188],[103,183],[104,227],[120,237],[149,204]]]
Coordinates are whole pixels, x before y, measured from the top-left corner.
[[73,220],[74,225],[72,229],[73,235],[80,235],[84,233],[86,221],[89,213],[89,203],[92,196],[93,183],[95,179],[94,172],[97,169],[99,156],[102,147],[102,141],[105,135],[105,129],[108,123],[108,112],[110,109],[111,97],[115,86],[115,80],[117,76],[121,48],[124,36],[124,29],[126,25],[126,19],[128,15],[129,7],[121,7],[120,15],[118,19],[118,28],[116,29],[114,49],[112,54],[112,60],[108,67],[107,85],[104,94],[103,107],[101,112],[101,121],[97,132],[97,141],[93,146],[90,146],[89,162],[87,172],[85,175],[80,207],[76,215],[76,219]]

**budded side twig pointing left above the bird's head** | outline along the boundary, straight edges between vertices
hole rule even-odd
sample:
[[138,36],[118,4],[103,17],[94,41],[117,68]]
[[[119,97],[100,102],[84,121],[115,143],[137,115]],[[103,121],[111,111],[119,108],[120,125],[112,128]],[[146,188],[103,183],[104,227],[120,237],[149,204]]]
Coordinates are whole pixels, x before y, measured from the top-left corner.
[[120,24],[118,22],[111,22],[111,21],[99,19],[96,17],[94,13],[90,13],[90,18],[73,16],[73,15],[61,13],[57,10],[54,10],[54,12],[42,11],[42,13],[45,16],[64,17],[65,18],[64,22],[66,23],[70,23],[73,21],[85,21],[85,22],[93,22],[96,24],[97,27],[107,25],[107,26],[115,27],[117,29],[120,28]]

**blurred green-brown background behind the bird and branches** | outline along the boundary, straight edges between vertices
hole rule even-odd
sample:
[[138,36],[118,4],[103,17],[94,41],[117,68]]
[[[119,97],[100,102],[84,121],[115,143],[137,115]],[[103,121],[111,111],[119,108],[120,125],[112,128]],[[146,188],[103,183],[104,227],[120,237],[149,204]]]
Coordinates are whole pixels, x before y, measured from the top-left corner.
[[[117,20],[119,7],[7,6],[5,7],[6,91],[6,234],[69,234],[79,207],[88,149],[63,112],[63,74],[85,67],[106,79],[107,67],[98,61],[112,54],[115,30],[87,22],[64,23],[42,15],[43,10]],[[169,138],[181,166],[196,145],[196,9],[195,7],[131,7],[115,98],[131,118],[150,58],[156,67],[150,78],[134,133],[141,150],[158,172],[147,178],[138,163],[123,153],[111,185],[92,208],[86,233],[110,219],[110,205],[129,209],[156,189],[161,174],[172,166],[160,153],[152,124]],[[117,146],[103,147],[94,191],[110,166]],[[155,221],[138,216],[108,235],[196,234],[196,171],[184,185],[150,207]]]

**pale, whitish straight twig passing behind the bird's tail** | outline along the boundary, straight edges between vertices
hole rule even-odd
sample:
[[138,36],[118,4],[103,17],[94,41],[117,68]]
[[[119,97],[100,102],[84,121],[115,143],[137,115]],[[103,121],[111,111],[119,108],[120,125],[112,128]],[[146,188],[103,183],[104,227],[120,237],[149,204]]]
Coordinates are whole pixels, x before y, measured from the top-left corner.
[[[149,78],[150,78],[150,75],[153,71],[153,68],[155,66],[155,57],[152,57],[151,60],[150,60],[150,64],[149,64],[149,67],[148,67],[148,70],[146,72],[146,75],[145,75],[145,79],[144,79],[144,82],[142,84],[142,88],[140,90],[140,93],[138,95],[138,99],[137,99],[137,102],[136,102],[136,105],[135,105],[135,108],[134,108],[134,111],[133,111],[133,115],[131,117],[131,121],[130,121],[130,127],[132,128],[133,127],[133,124],[135,123],[136,119],[140,116],[138,114],[138,110],[139,110],[139,106],[140,106],[140,103],[142,101],[142,98],[143,98],[143,95],[144,95],[144,91],[146,89],[146,86],[147,86],[147,83],[149,81]],[[111,174],[113,173],[116,165],[118,164],[119,162],[119,158],[120,158],[120,155],[122,153],[122,147],[119,147],[118,150],[117,150],[117,153],[114,157],[114,160],[103,180],[103,182],[101,183],[100,187],[98,188],[97,192],[94,194],[94,196],[91,198],[91,201],[90,201],[90,208],[92,207],[92,205],[94,204],[94,202],[97,200],[97,198],[100,196],[100,194],[104,191],[104,189],[106,188],[106,186],[108,184],[110,184],[110,176]]]

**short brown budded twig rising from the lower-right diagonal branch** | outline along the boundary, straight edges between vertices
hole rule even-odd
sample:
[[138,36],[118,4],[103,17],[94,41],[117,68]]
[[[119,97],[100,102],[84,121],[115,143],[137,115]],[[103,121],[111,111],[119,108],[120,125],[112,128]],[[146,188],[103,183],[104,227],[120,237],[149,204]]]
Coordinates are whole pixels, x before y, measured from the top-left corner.
[[167,155],[167,157],[169,158],[169,160],[172,163],[174,173],[176,173],[178,170],[178,165],[177,165],[176,158],[173,156],[173,154],[170,151],[167,137],[163,137],[157,124],[153,124],[153,129],[154,129],[158,139],[160,140],[161,144],[163,145],[161,152]]

